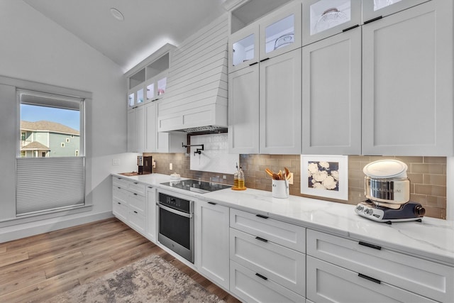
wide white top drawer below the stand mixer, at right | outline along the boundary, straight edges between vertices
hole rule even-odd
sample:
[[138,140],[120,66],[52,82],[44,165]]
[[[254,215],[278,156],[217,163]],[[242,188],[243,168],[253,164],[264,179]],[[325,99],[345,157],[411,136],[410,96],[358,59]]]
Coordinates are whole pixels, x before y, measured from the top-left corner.
[[[441,302],[454,297],[454,268],[319,231],[307,230],[307,254]],[[380,248],[380,249],[379,249]]]

